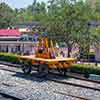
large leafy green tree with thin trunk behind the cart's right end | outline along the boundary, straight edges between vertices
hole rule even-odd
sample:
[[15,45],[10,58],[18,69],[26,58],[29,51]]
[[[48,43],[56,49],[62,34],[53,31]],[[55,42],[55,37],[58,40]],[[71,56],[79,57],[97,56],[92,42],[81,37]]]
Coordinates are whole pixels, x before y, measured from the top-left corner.
[[48,18],[45,21],[48,32],[64,36],[63,39],[68,47],[68,56],[70,56],[74,43],[84,47],[83,44],[86,46],[88,42],[89,46],[89,38],[92,36],[89,22],[93,18],[89,5],[82,1],[72,3],[68,0],[51,0],[49,2]]

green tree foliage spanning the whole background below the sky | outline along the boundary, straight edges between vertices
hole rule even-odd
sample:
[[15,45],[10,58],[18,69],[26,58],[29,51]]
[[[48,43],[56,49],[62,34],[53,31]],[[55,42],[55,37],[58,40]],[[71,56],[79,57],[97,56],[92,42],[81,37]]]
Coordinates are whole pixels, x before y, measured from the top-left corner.
[[16,23],[38,21],[49,35],[63,37],[62,41],[66,42],[70,56],[73,44],[77,43],[82,50],[87,50],[93,41],[97,41],[98,35],[95,35],[91,22],[100,21],[99,12],[99,1],[95,8],[83,0],[49,0],[48,5],[37,2],[27,8],[13,10],[2,3],[0,28]]

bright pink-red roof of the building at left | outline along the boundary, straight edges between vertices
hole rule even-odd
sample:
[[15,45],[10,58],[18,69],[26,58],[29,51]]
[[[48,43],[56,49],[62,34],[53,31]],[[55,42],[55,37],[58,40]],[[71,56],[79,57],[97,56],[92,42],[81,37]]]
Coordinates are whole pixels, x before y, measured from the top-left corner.
[[0,36],[20,36],[21,33],[15,29],[0,29]]

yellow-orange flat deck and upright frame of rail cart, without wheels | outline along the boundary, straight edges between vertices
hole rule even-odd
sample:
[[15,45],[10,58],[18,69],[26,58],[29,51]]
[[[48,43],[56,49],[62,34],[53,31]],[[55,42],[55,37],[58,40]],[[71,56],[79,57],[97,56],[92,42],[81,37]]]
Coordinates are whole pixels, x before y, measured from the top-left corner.
[[42,38],[40,37],[38,50],[42,47],[45,50],[42,53],[39,53],[38,50],[35,54],[35,56],[20,56],[19,58],[21,60],[25,61],[31,61],[31,63],[34,64],[47,64],[49,68],[55,69],[55,68],[70,68],[72,64],[75,62],[74,58],[53,58],[50,54],[54,54],[54,46],[53,41],[50,41],[51,48],[49,47],[48,38]]

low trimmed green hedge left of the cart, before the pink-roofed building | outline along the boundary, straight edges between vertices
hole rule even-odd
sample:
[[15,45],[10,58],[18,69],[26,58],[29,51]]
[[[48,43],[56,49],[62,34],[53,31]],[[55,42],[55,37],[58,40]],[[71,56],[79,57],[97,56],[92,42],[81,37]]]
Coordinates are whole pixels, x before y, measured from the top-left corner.
[[0,61],[6,61],[17,64],[19,63],[17,56],[18,55],[12,53],[0,53]]

